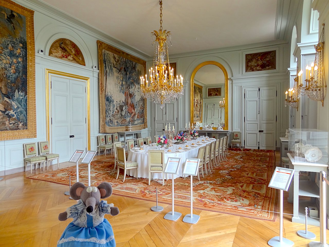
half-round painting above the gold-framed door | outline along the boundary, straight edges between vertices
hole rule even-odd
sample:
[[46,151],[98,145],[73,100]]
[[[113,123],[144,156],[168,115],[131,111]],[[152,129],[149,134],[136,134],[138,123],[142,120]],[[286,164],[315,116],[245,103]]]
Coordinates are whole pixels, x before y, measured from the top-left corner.
[[86,66],[85,58],[80,48],[68,39],[55,40],[50,46],[49,56]]

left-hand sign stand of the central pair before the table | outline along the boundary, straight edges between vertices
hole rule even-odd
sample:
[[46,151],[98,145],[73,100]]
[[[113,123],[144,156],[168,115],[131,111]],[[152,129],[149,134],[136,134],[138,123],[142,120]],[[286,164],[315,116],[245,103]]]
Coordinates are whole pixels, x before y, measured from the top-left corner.
[[174,211],[174,175],[177,175],[180,164],[181,164],[181,158],[169,157],[167,164],[164,168],[165,174],[171,174],[171,182],[172,182],[172,192],[171,192],[172,193],[172,210],[171,210],[171,212],[168,212],[168,213],[166,213],[166,215],[164,215],[164,219],[166,219],[166,220],[176,221],[182,216],[181,213]]

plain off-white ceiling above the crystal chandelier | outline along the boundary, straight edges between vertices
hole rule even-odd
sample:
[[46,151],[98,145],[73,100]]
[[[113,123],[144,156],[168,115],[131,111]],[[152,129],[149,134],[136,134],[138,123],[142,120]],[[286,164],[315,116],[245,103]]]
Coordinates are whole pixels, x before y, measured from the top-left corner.
[[[276,40],[282,0],[163,0],[163,29],[172,33],[169,55]],[[160,28],[158,0],[43,0],[146,56]],[[285,1],[287,2],[287,0]],[[281,13],[282,14],[282,13]],[[280,16],[280,19],[281,16]]]

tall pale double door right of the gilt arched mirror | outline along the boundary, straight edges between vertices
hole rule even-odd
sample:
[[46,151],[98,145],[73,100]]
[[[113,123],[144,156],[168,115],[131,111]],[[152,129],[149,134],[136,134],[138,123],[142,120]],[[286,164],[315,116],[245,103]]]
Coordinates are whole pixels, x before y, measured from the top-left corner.
[[244,90],[244,146],[276,149],[276,87]]

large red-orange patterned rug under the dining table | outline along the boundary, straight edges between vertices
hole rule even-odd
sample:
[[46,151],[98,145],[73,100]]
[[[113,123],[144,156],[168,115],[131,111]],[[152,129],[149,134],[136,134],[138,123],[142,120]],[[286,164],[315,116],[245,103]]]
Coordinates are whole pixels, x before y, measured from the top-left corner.
[[[275,220],[277,193],[267,187],[274,171],[274,151],[253,149],[229,149],[227,159],[205,177],[193,177],[193,208],[210,210],[238,216],[262,220]],[[104,158],[91,163],[91,184],[98,185],[102,181],[111,182],[113,194],[141,200],[155,201],[155,190],[158,188],[158,199],[162,203],[171,204],[171,179],[165,181],[148,178],[133,178],[120,172],[116,178],[114,160]],[[68,175],[74,181],[76,167],[34,175],[28,178],[69,184]],[[79,166],[79,180],[88,184],[88,165]],[[169,175],[170,176],[170,175]],[[190,206],[190,177],[176,178],[175,205]],[[242,206],[242,207],[241,207]],[[245,208],[248,207],[248,208]],[[259,210],[262,209],[262,210]]]

